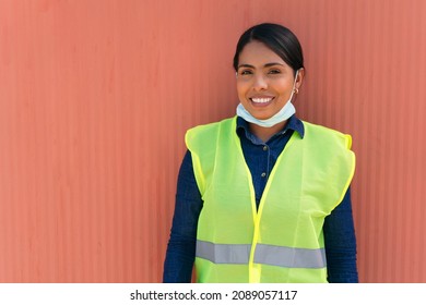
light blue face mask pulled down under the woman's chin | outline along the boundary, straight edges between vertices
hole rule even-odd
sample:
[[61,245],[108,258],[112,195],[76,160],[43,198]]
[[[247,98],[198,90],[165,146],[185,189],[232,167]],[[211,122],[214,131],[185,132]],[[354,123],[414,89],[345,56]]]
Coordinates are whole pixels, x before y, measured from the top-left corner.
[[262,127],[272,127],[273,125],[276,125],[277,123],[281,123],[281,122],[284,122],[285,120],[288,120],[289,117],[292,117],[294,113],[296,113],[296,108],[292,103],[292,99],[293,99],[294,87],[296,85],[296,80],[297,80],[298,73],[299,73],[299,71],[296,71],[296,76],[294,78],[295,81],[293,83],[292,94],[291,94],[287,102],[274,115],[272,115],[271,118],[269,118],[267,120],[256,119],[253,115],[251,115],[250,112],[248,112],[246,110],[246,108],[244,108],[244,106],[241,103],[238,103],[238,106],[237,106],[237,115],[241,117],[247,122],[257,124],[257,125],[262,126]]

